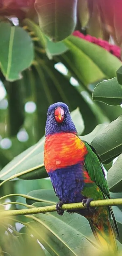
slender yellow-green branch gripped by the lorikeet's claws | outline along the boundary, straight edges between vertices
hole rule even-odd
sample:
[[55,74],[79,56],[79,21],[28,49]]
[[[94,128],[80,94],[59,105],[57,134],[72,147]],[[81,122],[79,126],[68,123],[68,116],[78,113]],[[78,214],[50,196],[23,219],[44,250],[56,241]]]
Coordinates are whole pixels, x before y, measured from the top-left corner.
[[[112,206],[112,205],[122,205],[122,198],[108,199],[108,200],[97,200],[97,201],[92,201],[90,203],[91,207]],[[78,209],[84,209],[84,206],[82,203],[63,204],[61,209],[62,210],[78,210]],[[4,217],[7,217],[7,216],[16,216],[16,215],[46,213],[46,212],[52,212],[52,211],[56,211],[55,205],[36,207],[36,208],[31,208],[31,209],[1,211],[0,217],[1,217],[1,215]]]

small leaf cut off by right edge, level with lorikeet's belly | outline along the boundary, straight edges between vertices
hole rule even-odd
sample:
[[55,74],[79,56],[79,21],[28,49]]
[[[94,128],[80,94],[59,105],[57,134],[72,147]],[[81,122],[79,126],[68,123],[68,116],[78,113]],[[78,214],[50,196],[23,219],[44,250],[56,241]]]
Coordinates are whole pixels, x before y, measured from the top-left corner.
[[122,154],[109,169],[107,173],[107,183],[111,192],[122,192]]

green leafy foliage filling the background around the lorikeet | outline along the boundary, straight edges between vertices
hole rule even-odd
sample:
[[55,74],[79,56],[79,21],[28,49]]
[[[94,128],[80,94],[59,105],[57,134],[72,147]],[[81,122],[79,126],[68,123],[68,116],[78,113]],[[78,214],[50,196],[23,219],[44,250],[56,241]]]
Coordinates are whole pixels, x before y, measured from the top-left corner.
[[[78,134],[101,156],[111,197],[122,197],[121,60],[70,35],[75,28],[106,41],[112,36],[121,45],[120,31],[106,20],[107,5],[101,2],[62,1],[54,10],[53,1],[52,9],[39,0],[1,1],[0,200],[5,209],[57,202],[43,165],[46,113],[57,101],[68,104]],[[122,207],[113,208],[121,243]],[[87,220],[77,214],[18,216],[0,224],[1,255],[81,255],[81,247],[86,255],[86,247],[97,246]]]

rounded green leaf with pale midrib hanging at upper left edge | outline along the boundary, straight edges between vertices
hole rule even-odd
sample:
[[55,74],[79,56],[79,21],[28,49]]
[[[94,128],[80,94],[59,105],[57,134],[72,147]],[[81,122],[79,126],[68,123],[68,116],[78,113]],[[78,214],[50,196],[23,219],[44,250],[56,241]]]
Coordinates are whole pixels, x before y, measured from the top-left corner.
[[0,23],[0,67],[6,80],[20,79],[20,72],[31,65],[34,58],[29,34],[21,27]]

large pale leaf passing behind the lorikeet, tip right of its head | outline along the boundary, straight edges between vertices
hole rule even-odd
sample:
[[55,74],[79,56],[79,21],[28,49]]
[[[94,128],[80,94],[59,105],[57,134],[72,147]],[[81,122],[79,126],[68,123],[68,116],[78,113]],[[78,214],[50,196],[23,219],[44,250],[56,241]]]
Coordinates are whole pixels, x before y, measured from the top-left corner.
[[[77,130],[79,131],[79,134],[81,134],[84,126],[79,110],[75,110],[72,113],[72,116]],[[79,122],[77,122],[77,118]],[[48,177],[43,164],[44,141],[45,138],[42,137],[38,143],[22,152],[7,164],[0,171],[0,180],[5,180],[15,174],[17,174],[21,179],[38,179]]]

